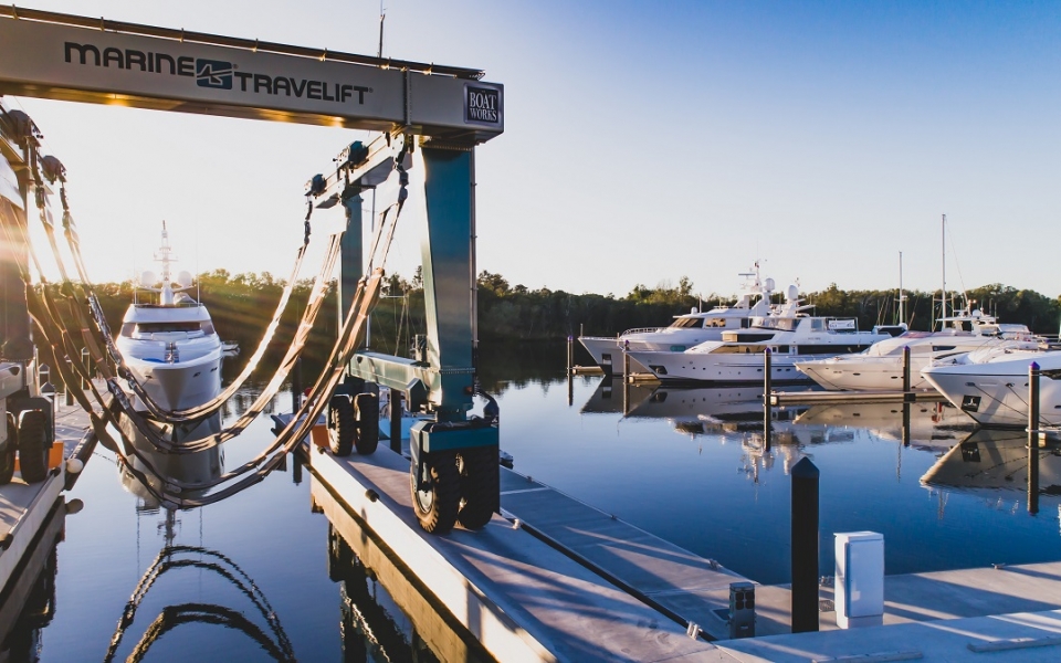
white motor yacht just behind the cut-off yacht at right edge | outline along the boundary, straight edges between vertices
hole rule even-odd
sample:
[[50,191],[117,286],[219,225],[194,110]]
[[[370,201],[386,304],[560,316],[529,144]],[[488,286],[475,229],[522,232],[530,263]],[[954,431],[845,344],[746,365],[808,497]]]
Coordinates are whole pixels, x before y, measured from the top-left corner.
[[903,348],[910,348],[910,388],[932,389],[921,369],[934,359],[1015,340],[1029,349],[1038,346],[1038,339],[1025,325],[1001,325],[980,311],[966,308],[939,323],[943,328],[938,332],[906,332],[876,343],[863,352],[801,360],[796,362],[796,368],[833,391],[902,389]]

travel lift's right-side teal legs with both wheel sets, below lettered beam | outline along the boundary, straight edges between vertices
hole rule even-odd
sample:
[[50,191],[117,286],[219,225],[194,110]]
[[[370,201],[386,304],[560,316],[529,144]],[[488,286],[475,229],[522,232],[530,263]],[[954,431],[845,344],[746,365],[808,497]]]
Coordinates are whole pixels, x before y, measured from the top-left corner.
[[[349,164],[350,172],[359,177],[344,178],[342,194],[318,204],[342,201],[347,217],[339,291],[343,316],[363,271],[360,193],[391,172],[395,157],[387,155],[393,152],[389,143],[384,138],[371,147],[355,143],[344,150],[336,160]],[[410,166],[422,168],[424,178],[426,343],[412,359],[357,352],[328,402],[329,445],[338,456],[354,450],[376,451],[379,386],[402,393],[410,411],[434,414],[434,421],[420,421],[410,431],[410,490],[420,525],[439,534],[456,523],[479,529],[500,508],[497,428],[491,420],[468,417],[474,393],[476,329],[473,157],[471,148],[431,147],[430,143],[412,150],[416,166]],[[407,151],[397,158],[410,160]],[[323,196],[325,188],[318,176],[311,180],[307,194]],[[391,407],[398,407],[397,398]]]

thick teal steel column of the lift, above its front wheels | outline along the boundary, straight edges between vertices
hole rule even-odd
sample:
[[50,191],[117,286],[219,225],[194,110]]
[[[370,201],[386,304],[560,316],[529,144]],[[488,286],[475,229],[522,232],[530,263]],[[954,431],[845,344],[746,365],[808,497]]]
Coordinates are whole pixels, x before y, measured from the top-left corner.
[[427,204],[421,250],[428,360],[439,370],[431,401],[439,421],[464,421],[474,377],[474,152],[421,148],[420,154]]

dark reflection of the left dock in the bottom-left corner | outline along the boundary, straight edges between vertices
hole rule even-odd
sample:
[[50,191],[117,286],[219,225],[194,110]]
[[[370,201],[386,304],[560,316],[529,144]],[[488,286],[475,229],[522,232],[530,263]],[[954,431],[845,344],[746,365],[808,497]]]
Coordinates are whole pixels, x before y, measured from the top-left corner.
[[66,504],[60,498],[41,527],[35,546],[23,556],[22,571],[12,576],[3,588],[0,661],[38,661],[40,657],[41,631],[55,614],[57,547],[63,540],[65,522]]

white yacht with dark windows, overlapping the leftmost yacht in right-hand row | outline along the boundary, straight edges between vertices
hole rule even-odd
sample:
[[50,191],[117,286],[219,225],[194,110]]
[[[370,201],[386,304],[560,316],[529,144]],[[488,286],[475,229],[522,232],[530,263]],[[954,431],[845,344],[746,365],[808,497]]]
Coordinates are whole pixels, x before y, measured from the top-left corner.
[[630,357],[662,381],[761,382],[764,350],[769,348],[771,380],[800,382],[809,378],[796,370],[797,360],[857,352],[891,337],[878,329],[859,330],[854,318],[808,316],[802,311],[810,306],[800,305],[798,295],[798,288],[789,286],[782,307],[752,318],[747,329],[723,332],[722,340],[684,352],[631,350]]

